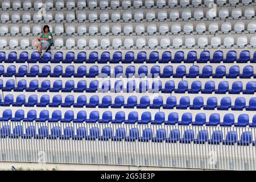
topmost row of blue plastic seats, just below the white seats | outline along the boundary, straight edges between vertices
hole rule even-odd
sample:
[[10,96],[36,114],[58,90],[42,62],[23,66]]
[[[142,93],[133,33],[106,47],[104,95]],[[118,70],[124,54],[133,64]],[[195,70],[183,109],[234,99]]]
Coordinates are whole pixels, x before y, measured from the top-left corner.
[[[158,51],[151,51],[150,55],[147,56],[145,51],[138,52],[135,56],[133,51],[128,51],[125,53],[123,58],[123,53],[121,51],[116,51],[110,56],[108,51],[102,52],[101,55],[96,51],[90,52],[88,59],[86,57],[86,52],[79,52],[77,56],[75,53],[70,51],[64,55],[63,52],[56,52],[52,55],[50,52],[45,52],[42,59],[40,59],[39,52],[32,52],[29,58],[28,52],[21,52],[19,59],[16,52],[10,52],[7,59],[5,52],[0,52],[0,62],[5,63],[256,63],[256,52],[254,52],[253,57],[250,56],[250,51],[241,51],[237,55],[236,51],[228,51],[224,56],[223,51],[215,51],[213,55],[210,55],[209,51],[200,52],[200,56],[197,57],[196,51],[189,51],[187,56],[183,51],[177,51],[172,57],[170,51],[164,51],[159,55]],[[185,58],[187,57],[187,58]],[[225,57],[225,58],[224,58]],[[238,58],[239,57],[239,58]]]

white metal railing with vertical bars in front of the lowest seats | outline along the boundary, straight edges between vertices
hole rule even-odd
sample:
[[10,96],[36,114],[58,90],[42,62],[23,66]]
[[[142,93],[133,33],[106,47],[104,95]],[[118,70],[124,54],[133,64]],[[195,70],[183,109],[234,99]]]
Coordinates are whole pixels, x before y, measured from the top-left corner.
[[0,161],[255,170],[249,127],[1,122]]

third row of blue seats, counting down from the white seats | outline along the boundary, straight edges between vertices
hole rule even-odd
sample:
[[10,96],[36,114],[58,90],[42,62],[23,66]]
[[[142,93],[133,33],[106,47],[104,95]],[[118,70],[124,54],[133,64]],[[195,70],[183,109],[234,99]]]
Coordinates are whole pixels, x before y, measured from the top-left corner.
[[232,89],[229,89],[228,81],[221,81],[218,84],[218,89],[215,88],[214,81],[205,82],[204,89],[202,88],[201,81],[193,81],[191,83],[191,89],[188,88],[188,81],[179,81],[179,84],[175,86],[175,81],[168,80],[165,82],[164,87],[162,86],[162,81],[155,80],[152,82],[151,89],[150,84],[147,80],[139,82],[139,87],[136,86],[135,80],[127,81],[126,88],[124,86],[123,80],[117,80],[112,82],[110,80],[105,80],[101,82],[101,86],[98,80],[90,81],[89,87],[86,85],[86,80],[80,80],[77,82],[75,87],[74,80],[65,81],[65,86],[63,87],[62,80],[55,80],[52,84],[50,80],[43,80],[41,82],[41,87],[39,87],[39,80],[31,80],[29,86],[27,87],[26,80],[20,80],[15,86],[15,81],[13,79],[7,80],[5,86],[3,86],[3,81],[0,80],[0,88],[3,92],[112,92],[112,93],[201,93],[201,94],[254,94],[256,91],[256,81],[246,82],[245,89],[243,89],[243,83],[241,81],[234,81],[232,83]]

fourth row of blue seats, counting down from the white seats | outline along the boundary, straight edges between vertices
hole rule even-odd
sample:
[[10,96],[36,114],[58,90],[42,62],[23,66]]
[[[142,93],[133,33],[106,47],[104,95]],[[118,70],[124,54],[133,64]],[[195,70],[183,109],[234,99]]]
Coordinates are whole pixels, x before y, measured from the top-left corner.
[[[256,110],[256,97],[251,97],[250,100],[246,101],[245,97],[237,97],[236,100],[232,101],[230,97],[208,97],[204,98],[197,96],[193,98],[191,103],[191,98],[188,96],[180,97],[179,103],[177,103],[177,98],[175,96],[168,96],[166,99],[163,96],[155,96],[152,102],[149,96],[129,96],[127,101],[124,96],[103,96],[100,101],[100,97],[97,95],[90,96],[89,102],[85,95],[73,96],[67,95],[63,101],[60,94],[53,97],[48,94],[44,94],[38,100],[36,94],[30,95],[26,99],[25,94],[19,94],[16,96],[14,101],[13,94],[6,94],[3,101],[0,96],[0,106],[16,106],[16,107],[98,107],[98,108],[137,108],[137,109],[191,109],[191,110]],[[219,99],[219,101],[218,101]],[[138,102],[139,100],[139,102]],[[207,101],[206,101],[207,100]],[[52,102],[51,102],[52,101]],[[205,103],[206,102],[206,103]],[[219,102],[219,103],[218,103]],[[233,102],[233,104],[232,104]],[[247,104],[246,104],[247,102]],[[247,105],[247,106],[246,106]]]

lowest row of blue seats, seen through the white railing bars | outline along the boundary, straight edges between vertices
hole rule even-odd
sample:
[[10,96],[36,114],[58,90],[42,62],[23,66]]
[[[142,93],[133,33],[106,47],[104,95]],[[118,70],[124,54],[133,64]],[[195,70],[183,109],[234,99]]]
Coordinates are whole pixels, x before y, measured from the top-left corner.
[[167,143],[195,143],[195,144],[226,144],[238,146],[249,146],[253,143],[255,146],[255,141],[253,142],[253,136],[251,131],[243,131],[240,140],[238,140],[237,131],[228,131],[226,133],[226,138],[224,139],[221,130],[214,130],[212,132],[211,138],[209,138],[209,133],[207,130],[199,130],[197,137],[195,137],[195,131],[192,129],[187,129],[181,137],[181,132],[179,129],[172,129],[170,134],[167,134],[166,129],[158,129],[154,134],[152,129],[143,129],[142,135],[137,127],[129,129],[129,135],[126,134],[126,129],[124,127],[118,127],[115,130],[115,135],[112,127],[105,127],[101,130],[99,127],[91,127],[87,131],[86,127],[80,126],[75,129],[72,126],[67,126],[64,128],[63,133],[61,132],[60,126],[53,126],[51,128],[51,134],[47,126],[41,126],[38,129],[38,134],[36,134],[35,126],[28,126],[26,132],[23,131],[22,125],[17,125],[11,133],[11,127],[9,125],[4,125],[1,128],[1,138],[36,138],[36,139],[73,139],[73,140],[114,140],[114,141],[128,141],[134,142],[138,140],[139,142],[167,142]]

